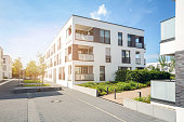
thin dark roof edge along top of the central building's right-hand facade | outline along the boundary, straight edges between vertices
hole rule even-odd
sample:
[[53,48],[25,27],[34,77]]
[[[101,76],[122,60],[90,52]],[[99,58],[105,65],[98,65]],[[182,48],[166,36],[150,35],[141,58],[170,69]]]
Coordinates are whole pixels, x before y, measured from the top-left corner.
[[74,15],[74,14],[73,14],[73,16],[82,17],[82,18],[87,18],[87,19],[92,19],[92,21],[96,21],[96,22],[102,22],[102,23],[106,23],[106,24],[111,24],[111,25],[116,25],[116,26],[121,26],[121,27],[127,27],[127,28],[131,28],[131,29],[136,29],[136,30],[145,31],[145,30],[139,29],[139,28],[133,28],[133,27],[129,27],[129,26],[123,26],[123,25],[119,25],[119,24],[114,24],[114,23],[109,23],[109,22],[100,21],[100,19],[83,17],[83,16],[79,16],[79,15]]

